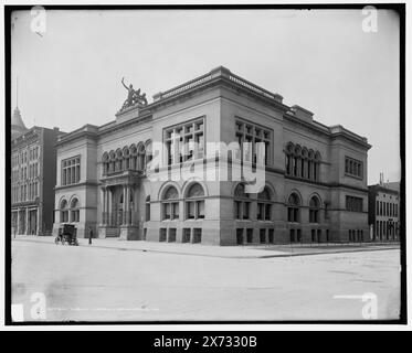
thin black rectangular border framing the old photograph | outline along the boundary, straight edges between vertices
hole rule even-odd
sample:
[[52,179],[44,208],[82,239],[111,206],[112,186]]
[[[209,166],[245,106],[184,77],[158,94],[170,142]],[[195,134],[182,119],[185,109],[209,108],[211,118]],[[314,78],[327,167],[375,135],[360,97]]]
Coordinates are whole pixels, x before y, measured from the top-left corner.
[[[11,319],[11,15],[13,11],[30,11],[31,6],[4,6],[4,324],[6,325],[187,325],[187,324],[408,324],[406,318],[406,210],[405,210],[405,3],[318,3],[318,4],[150,4],[150,6],[44,6],[45,10],[361,10],[372,6],[378,10],[392,10],[400,23],[400,254],[401,254],[401,301],[400,318],[397,320],[245,320],[245,321],[27,321],[12,322]],[[172,333],[170,331],[170,333]]]

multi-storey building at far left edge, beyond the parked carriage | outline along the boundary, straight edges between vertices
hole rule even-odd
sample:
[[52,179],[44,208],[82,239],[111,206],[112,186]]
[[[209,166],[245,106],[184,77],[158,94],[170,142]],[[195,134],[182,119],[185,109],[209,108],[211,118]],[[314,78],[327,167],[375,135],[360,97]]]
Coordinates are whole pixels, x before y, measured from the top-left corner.
[[11,119],[12,234],[51,235],[59,129],[28,129],[19,108]]

